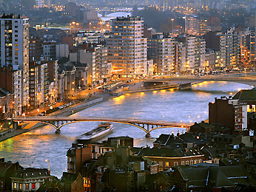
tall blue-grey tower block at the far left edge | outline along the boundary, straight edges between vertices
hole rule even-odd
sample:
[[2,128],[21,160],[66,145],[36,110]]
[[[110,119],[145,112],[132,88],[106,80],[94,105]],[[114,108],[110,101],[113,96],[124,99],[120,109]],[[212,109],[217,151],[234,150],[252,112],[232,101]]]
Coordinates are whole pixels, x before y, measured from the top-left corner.
[[0,18],[0,63],[18,65],[22,70],[21,111],[24,112],[29,103],[29,23],[28,18],[3,15]]

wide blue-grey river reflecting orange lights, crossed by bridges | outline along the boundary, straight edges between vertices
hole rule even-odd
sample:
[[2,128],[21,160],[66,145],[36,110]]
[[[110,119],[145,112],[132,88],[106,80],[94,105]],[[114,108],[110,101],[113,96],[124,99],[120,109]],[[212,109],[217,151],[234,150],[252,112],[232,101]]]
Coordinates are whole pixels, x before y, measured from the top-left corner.
[[[115,97],[73,116],[131,117],[176,122],[192,122],[195,118],[199,122],[208,119],[208,103],[214,101],[215,97],[235,95],[239,89],[249,89],[249,86],[209,81],[193,85],[191,90],[138,92]],[[0,157],[12,162],[18,161],[25,168],[48,168],[45,160],[50,160],[51,174],[60,178],[67,168],[68,148],[76,137],[97,125],[98,123],[92,122],[73,123],[62,127],[61,134],[55,134],[52,126],[44,126],[1,142]],[[145,132],[140,128],[118,123],[114,126],[109,137],[133,137],[135,146],[152,146],[152,142],[161,133],[171,134],[174,131],[176,134],[177,131],[185,131],[183,128],[160,128],[152,131],[150,138],[145,138]]]

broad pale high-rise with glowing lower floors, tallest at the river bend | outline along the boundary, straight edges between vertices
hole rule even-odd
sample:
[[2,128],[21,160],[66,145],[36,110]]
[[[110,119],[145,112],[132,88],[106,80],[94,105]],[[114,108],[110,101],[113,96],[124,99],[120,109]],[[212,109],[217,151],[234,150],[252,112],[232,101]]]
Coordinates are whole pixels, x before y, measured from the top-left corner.
[[115,77],[145,75],[146,38],[143,24],[141,17],[112,20],[112,35],[107,38],[107,49]]

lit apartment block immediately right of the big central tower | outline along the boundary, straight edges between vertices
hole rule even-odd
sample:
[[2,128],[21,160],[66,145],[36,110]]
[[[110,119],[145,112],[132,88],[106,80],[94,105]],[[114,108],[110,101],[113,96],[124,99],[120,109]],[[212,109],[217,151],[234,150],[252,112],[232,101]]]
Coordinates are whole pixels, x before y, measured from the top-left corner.
[[171,75],[175,72],[175,40],[168,34],[155,34],[147,40],[147,58],[155,65],[155,74]]

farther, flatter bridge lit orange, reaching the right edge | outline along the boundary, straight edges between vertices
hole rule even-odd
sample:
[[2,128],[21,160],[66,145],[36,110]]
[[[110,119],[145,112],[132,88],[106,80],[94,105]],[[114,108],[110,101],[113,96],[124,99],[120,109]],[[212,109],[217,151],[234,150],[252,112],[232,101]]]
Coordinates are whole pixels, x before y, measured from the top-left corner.
[[203,81],[229,81],[233,83],[242,83],[246,84],[249,86],[256,86],[256,78],[252,77],[229,77],[229,76],[224,76],[224,75],[208,75],[208,76],[186,76],[186,77],[173,77],[173,78],[161,78],[161,79],[152,79],[152,80],[147,80],[146,82],[151,82],[151,83],[193,83],[193,82],[203,82]]

